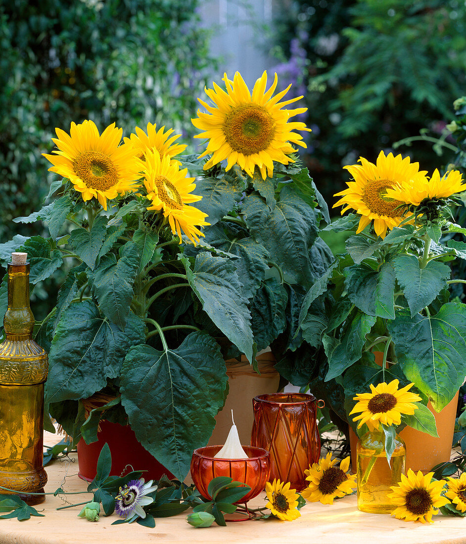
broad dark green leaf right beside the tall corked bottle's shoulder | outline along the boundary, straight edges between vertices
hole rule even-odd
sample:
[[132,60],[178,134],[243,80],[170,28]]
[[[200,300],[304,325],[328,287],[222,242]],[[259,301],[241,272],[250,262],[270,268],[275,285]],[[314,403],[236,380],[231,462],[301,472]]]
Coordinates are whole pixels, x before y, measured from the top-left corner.
[[46,401],[83,399],[119,376],[131,345],[144,340],[145,325],[134,314],[121,332],[102,318],[94,302],[71,304],[62,314],[48,357]]

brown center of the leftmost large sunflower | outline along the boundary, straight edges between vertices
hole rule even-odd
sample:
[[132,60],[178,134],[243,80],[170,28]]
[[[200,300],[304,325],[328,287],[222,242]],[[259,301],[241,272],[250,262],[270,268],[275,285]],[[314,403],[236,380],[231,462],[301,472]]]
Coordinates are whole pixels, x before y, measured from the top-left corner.
[[93,189],[106,191],[119,181],[118,169],[112,159],[100,151],[84,151],[73,160],[73,170]]

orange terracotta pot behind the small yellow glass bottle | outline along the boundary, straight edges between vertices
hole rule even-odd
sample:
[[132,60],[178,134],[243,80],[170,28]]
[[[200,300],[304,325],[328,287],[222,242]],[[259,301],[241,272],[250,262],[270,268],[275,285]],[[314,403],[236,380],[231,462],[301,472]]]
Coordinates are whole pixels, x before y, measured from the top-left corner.
[[[431,403],[428,409],[436,419],[438,438],[428,435],[426,432],[416,431],[412,427],[405,427],[400,437],[406,444],[406,471],[408,468],[414,472],[422,471],[424,474],[431,469],[450,460],[451,446],[453,442],[453,429],[455,428],[456,407],[458,405],[458,393],[441,412],[436,412]],[[352,472],[356,472],[356,445],[358,437],[351,426],[349,427],[349,444],[351,445]]]

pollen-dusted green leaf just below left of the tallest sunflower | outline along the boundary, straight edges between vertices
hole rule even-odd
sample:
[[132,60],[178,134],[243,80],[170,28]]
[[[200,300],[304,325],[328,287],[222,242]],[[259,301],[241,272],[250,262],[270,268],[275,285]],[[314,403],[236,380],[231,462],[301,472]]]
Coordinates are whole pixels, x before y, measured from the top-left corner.
[[196,180],[196,194],[203,199],[197,207],[209,215],[207,220],[215,225],[241,200],[247,186],[246,177],[236,164],[223,177],[199,177]]

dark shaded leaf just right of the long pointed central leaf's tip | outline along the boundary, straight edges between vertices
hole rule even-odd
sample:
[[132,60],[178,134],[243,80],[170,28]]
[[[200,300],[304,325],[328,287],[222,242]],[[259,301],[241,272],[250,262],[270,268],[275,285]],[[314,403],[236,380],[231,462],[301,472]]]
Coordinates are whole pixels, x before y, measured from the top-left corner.
[[286,289],[274,278],[257,289],[251,305],[251,323],[257,350],[266,348],[286,327]]

